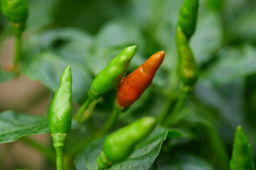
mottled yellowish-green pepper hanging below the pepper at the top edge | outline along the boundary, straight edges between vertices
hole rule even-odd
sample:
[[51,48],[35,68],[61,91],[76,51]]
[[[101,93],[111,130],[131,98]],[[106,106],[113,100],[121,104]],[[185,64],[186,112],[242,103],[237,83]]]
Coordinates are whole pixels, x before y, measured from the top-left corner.
[[198,79],[198,67],[189,47],[186,35],[177,28],[176,47],[178,51],[178,74],[184,87],[193,87]]

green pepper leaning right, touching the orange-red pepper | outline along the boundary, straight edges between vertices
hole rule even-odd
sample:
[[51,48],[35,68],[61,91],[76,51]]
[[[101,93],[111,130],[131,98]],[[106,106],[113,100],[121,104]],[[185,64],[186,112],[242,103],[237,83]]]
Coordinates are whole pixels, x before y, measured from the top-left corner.
[[97,99],[102,94],[107,93],[107,91],[119,86],[124,72],[129,67],[129,63],[135,55],[136,49],[136,45],[126,47],[117,57],[114,57],[105,69],[102,69],[102,71],[97,74],[97,77],[92,81],[92,86],[88,91],[92,99]]

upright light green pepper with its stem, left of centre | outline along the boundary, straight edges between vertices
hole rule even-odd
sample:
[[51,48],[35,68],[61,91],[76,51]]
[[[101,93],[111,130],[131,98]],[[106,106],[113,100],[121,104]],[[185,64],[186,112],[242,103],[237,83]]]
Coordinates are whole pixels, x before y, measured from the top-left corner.
[[70,66],[65,67],[60,77],[60,86],[50,105],[48,125],[56,150],[57,169],[63,166],[63,148],[71,127],[72,75]]

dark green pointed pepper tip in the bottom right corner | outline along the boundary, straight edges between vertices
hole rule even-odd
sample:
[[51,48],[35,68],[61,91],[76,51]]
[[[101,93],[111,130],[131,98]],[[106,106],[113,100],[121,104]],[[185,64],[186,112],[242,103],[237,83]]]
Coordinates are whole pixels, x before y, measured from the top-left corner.
[[254,170],[250,143],[239,125],[235,131],[230,170]]

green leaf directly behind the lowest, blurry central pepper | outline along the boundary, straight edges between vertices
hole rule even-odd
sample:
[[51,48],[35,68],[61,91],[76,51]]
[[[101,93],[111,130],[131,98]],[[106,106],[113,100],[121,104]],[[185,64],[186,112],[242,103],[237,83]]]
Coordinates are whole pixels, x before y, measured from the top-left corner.
[[[150,169],[151,165],[159,155],[161,145],[166,140],[167,135],[181,137],[178,130],[165,130],[156,128],[149,137],[135,147],[134,152],[123,162],[113,164],[110,169]],[[105,137],[92,142],[75,158],[75,166],[79,169],[97,170],[97,157],[102,151],[102,144]]]

